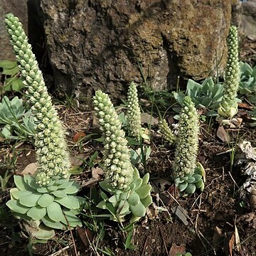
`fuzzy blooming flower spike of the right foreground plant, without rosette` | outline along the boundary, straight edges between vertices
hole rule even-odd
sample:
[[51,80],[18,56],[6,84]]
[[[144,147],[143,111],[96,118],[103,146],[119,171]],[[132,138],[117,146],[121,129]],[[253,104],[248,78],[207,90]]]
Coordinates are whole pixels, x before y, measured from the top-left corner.
[[184,97],[178,122],[178,138],[174,159],[174,176],[192,175],[198,154],[198,114],[191,97]]

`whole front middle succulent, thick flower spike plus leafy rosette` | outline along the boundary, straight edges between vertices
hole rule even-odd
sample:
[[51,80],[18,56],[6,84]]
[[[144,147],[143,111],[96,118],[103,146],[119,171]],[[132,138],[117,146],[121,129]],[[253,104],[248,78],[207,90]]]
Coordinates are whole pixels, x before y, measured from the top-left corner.
[[[130,222],[134,223],[146,213],[152,198],[149,174],[139,177],[139,171],[134,168],[129,160],[129,149],[124,131],[117,112],[104,92],[98,90],[93,104],[96,116],[99,118],[102,130],[104,151],[105,181],[100,182],[100,187],[110,193],[110,198],[101,191],[103,199],[97,207],[107,209],[112,214],[112,219],[121,223],[125,215],[132,214]],[[149,150],[150,152],[150,150]]]

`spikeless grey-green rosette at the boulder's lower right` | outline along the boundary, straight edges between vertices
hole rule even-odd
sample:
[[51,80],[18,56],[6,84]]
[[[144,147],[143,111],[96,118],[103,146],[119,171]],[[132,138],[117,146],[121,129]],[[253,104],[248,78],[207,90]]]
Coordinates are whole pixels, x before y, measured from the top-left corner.
[[[220,101],[223,97],[223,85],[220,83],[215,84],[213,78],[206,78],[202,84],[195,82],[191,79],[188,80],[186,94],[183,92],[173,92],[176,102],[181,107],[183,106],[184,97],[189,96],[194,102],[195,107],[207,108],[208,110],[217,110]],[[178,111],[180,108],[174,110]],[[208,115],[217,115],[213,112],[208,112]]]

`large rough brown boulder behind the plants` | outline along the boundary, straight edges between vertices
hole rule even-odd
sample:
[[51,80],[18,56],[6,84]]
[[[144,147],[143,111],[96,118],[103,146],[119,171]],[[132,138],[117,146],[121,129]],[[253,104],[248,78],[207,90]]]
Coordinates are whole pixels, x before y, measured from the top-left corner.
[[120,97],[142,82],[139,66],[157,90],[225,67],[230,1],[41,0],[41,10],[55,84],[80,99]]

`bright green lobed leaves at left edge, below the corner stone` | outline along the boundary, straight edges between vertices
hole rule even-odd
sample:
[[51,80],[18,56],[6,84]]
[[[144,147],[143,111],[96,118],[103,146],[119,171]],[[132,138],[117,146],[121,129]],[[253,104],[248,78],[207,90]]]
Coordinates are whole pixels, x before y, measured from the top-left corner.
[[3,91],[20,91],[23,88],[19,78],[18,65],[14,60],[0,60],[1,75],[4,75]]

